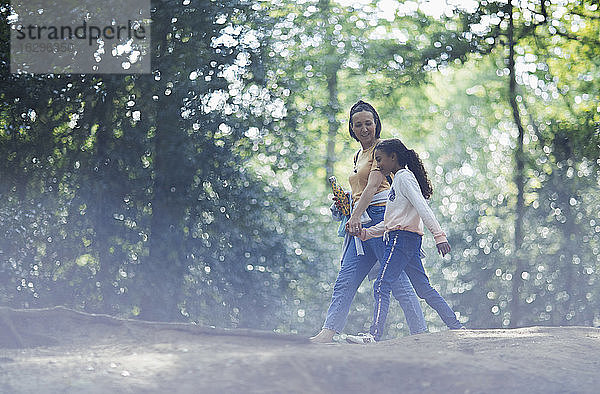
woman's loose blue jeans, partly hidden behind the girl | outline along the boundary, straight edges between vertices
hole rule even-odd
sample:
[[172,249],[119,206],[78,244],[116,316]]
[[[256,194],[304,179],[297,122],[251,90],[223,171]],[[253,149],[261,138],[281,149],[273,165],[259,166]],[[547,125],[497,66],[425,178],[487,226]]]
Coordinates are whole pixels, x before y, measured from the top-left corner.
[[[370,206],[367,208],[367,213],[371,217],[371,221],[363,227],[374,226],[383,220],[385,206]],[[327,318],[325,319],[323,328],[334,330],[338,333],[342,332],[346,325],[346,319],[356,290],[358,290],[358,287],[377,260],[383,264],[385,243],[382,237],[371,238],[363,242],[363,250],[365,252],[364,255],[356,255],[356,246],[354,237],[352,237],[342,257],[342,266],[333,287],[331,305],[327,311]],[[410,284],[408,276],[404,272],[400,272],[396,275],[395,279],[390,283],[390,289],[404,311],[404,317],[406,318],[410,333],[418,334],[427,331],[427,324],[423,317],[421,304],[415,294],[415,290]]]

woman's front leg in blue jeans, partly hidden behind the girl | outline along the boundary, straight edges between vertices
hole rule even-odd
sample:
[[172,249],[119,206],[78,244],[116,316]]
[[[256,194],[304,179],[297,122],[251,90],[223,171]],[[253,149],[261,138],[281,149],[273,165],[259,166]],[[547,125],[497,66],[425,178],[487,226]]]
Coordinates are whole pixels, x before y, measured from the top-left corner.
[[[374,251],[377,260],[380,262],[385,261],[386,245],[382,237],[372,238],[366,244]],[[397,280],[391,282],[391,290],[394,298],[398,300],[400,307],[404,311],[404,317],[406,318],[406,324],[410,333],[419,334],[427,331],[423,309],[421,309],[415,289],[412,287],[404,271],[400,272]]]

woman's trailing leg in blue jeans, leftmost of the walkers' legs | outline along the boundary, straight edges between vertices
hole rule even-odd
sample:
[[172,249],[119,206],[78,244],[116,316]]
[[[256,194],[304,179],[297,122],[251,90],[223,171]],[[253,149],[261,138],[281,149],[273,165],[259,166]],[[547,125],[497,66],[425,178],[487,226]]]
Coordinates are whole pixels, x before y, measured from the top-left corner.
[[333,287],[331,304],[323,324],[324,329],[342,332],[356,290],[374,263],[375,259],[369,255],[368,251],[365,251],[365,255],[356,255],[354,238],[352,238],[342,259],[342,267]]

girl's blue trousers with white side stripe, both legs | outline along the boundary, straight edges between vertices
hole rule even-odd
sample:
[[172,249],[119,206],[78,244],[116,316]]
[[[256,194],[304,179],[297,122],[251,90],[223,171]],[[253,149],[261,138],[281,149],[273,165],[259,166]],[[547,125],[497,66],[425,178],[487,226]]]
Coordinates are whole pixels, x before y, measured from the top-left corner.
[[459,329],[462,324],[446,300],[429,283],[421,262],[421,236],[410,231],[391,231],[385,247],[385,257],[379,275],[373,284],[375,306],[370,332],[375,340],[383,335],[385,319],[390,306],[390,290],[399,275],[408,275],[417,295],[423,298],[440,315],[450,329]]

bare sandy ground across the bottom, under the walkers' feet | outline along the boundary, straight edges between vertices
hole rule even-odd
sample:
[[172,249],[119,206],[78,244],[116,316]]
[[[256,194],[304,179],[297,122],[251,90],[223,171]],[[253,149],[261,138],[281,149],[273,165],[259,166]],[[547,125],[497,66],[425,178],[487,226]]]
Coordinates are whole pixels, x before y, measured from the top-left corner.
[[444,331],[373,345],[65,308],[0,308],[0,393],[599,393],[600,329]]

